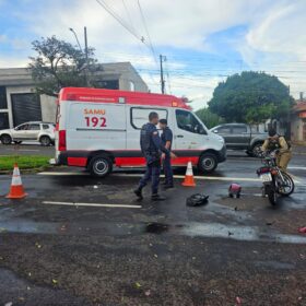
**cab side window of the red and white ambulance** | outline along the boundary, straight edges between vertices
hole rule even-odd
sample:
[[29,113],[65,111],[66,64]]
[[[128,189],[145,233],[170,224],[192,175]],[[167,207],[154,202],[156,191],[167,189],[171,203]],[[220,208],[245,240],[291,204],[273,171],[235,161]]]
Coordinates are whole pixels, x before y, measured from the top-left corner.
[[205,133],[202,123],[195,115],[187,110],[176,110],[177,127],[191,133]]

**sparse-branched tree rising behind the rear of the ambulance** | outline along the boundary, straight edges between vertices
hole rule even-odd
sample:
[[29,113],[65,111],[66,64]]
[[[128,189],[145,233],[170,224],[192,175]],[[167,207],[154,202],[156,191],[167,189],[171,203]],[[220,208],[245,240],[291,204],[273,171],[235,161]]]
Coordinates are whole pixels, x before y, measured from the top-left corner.
[[86,59],[82,50],[56,36],[42,37],[32,45],[37,55],[30,57],[28,68],[39,94],[57,96],[66,86],[93,86],[94,72],[102,70],[93,48],[89,48]]

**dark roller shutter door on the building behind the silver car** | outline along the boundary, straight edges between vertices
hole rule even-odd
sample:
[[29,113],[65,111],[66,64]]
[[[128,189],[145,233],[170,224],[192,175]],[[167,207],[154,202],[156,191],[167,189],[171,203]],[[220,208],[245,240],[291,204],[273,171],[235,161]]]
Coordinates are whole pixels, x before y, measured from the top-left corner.
[[36,94],[11,94],[14,127],[27,121],[42,121],[40,99]]

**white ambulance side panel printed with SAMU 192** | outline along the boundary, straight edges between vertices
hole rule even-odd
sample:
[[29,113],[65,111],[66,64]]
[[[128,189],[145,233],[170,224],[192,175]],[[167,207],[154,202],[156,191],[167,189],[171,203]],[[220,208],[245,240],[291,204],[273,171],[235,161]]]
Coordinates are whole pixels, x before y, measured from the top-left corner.
[[126,105],[72,103],[69,114],[68,150],[126,150]]

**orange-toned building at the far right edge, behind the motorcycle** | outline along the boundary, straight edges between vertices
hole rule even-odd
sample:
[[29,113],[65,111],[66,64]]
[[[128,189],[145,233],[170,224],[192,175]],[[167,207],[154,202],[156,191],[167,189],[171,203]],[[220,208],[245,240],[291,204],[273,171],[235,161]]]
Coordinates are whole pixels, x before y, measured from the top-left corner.
[[297,144],[306,143],[306,101],[296,101],[291,117],[291,139]]

